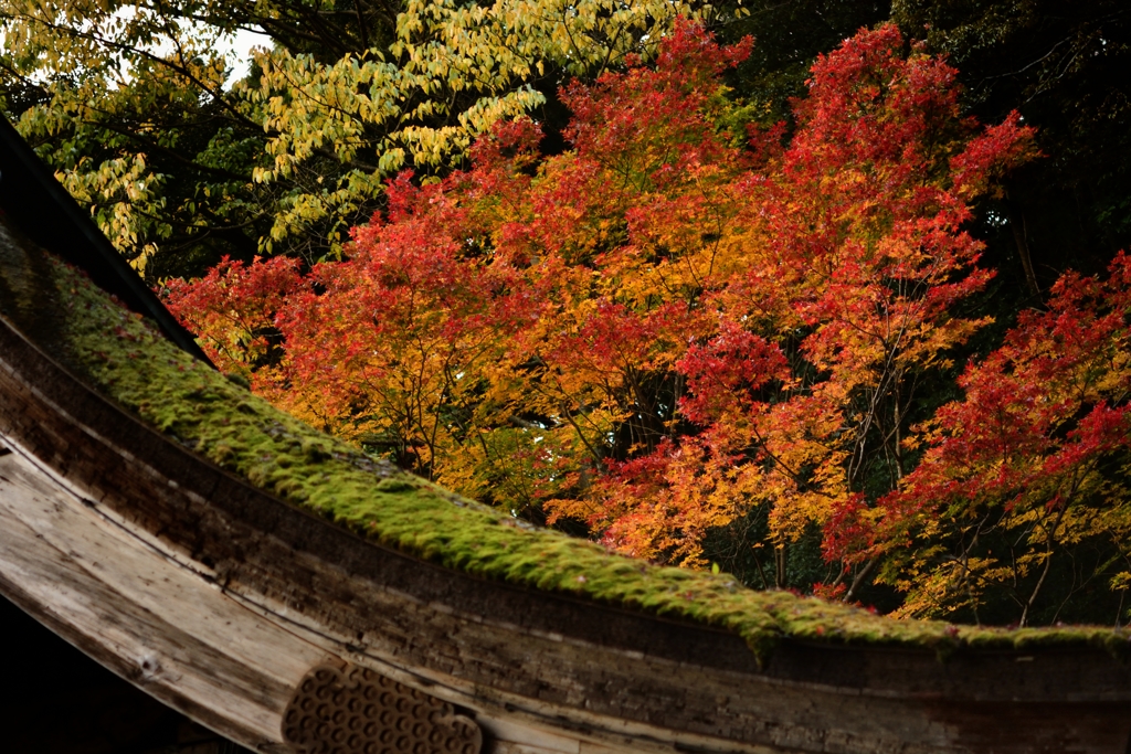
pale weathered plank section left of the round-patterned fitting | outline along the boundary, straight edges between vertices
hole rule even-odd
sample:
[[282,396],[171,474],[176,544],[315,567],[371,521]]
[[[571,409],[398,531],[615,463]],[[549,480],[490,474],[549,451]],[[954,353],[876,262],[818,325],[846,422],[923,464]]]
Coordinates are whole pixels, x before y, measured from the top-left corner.
[[325,649],[110,523],[18,453],[0,458],[0,541],[5,591],[49,627],[217,733],[287,751],[282,711],[303,674],[333,659]]

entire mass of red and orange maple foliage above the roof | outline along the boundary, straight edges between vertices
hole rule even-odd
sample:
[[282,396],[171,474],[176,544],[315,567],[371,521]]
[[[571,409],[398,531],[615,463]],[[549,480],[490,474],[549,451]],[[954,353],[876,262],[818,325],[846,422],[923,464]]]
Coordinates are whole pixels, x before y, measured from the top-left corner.
[[[562,90],[570,150],[500,121],[469,170],[390,181],[347,260],[228,261],[173,284],[174,311],[277,405],[625,553],[706,566],[761,512],[754,586],[874,575],[906,615],[1021,623],[1089,583],[1117,599],[1123,262],[1065,278],[931,407],[991,321],[962,313],[992,278],[964,224],[1031,129],[964,118],[955,69],[882,26],[746,147],[716,124],[749,50],[677,24],[655,64]],[[827,584],[789,575],[814,536]]]

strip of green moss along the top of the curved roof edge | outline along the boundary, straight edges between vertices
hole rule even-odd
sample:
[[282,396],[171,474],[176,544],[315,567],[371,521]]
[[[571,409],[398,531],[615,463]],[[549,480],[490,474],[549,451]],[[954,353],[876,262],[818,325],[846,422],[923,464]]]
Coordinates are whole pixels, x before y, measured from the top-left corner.
[[753,591],[726,574],[656,566],[535,529],[375,461],[279,411],[179,350],[140,318],[53,262],[68,302],[64,361],[89,383],[200,456],[382,545],[485,579],[691,621],[742,636],[759,662],[783,639],[829,644],[1131,653],[1125,631],[982,629],[896,621],[812,597]]

